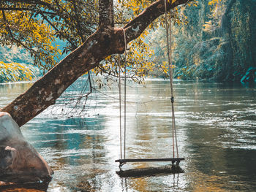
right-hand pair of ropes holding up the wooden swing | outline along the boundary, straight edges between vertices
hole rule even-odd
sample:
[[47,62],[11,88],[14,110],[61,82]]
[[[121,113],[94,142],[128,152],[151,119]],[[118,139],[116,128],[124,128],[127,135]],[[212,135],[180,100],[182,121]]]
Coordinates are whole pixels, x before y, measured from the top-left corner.
[[[167,55],[168,55],[168,64],[169,64],[169,77],[170,77],[170,100],[172,104],[172,125],[173,125],[173,158],[175,158],[175,150],[174,150],[174,137],[176,140],[176,153],[178,158],[178,141],[176,134],[176,123],[175,123],[175,115],[174,115],[174,96],[173,96],[173,64],[172,64],[172,56],[171,56],[171,18],[169,23],[170,30],[170,39],[169,39],[169,31],[168,31],[168,21],[167,21],[167,1],[165,0],[165,25],[166,25],[166,38],[167,38]],[[170,42],[169,42],[170,41]]]

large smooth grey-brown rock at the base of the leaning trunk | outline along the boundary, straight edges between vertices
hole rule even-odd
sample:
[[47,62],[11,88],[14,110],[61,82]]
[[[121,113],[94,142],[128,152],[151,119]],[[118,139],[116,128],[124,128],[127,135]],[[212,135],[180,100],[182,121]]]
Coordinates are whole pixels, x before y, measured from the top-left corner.
[[0,181],[48,182],[52,174],[52,169],[37,150],[26,142],[10,114],[0,112]]

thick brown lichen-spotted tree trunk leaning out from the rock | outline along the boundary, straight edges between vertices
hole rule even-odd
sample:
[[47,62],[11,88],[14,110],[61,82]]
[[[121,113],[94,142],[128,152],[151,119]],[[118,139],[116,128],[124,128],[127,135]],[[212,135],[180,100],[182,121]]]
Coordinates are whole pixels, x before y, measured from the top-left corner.
[[[167,10],[191,0],[167,1]],[[101,0],[99,5],[112,6],[113,1]],[[19,126],[37,116],[61,96],[69,85],[85,72],[94,69],[99,61],[108,55],[124,53],[124,31],[113,28],[113,8],[102,7],[99,29],[80,47],[67,55],[59,64],[34,82],[28,91],[21,94],[12,103],[1,109],[8,112]],[[159,0],[148,6],[138,17],[124,26],[127,42],[140,36],[146,27],[165,12],[165,0]]]

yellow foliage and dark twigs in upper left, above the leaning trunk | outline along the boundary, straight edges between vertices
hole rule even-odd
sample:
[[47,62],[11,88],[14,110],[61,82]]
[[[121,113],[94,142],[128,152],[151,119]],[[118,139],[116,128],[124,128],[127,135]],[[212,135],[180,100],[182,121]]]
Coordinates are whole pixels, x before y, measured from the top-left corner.
[[[51,69],[59,55],[75,50],[97,26],[96,1],[1,1],[1,45],[24,47],[34,65]],[[67,43],[60,50],[56,40]]]

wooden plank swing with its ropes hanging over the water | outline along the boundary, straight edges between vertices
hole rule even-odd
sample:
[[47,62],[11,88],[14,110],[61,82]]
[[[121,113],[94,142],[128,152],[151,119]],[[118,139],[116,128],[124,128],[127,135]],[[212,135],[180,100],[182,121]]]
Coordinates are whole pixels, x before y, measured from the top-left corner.
[[[170,14],[170,12],[169,12]],[[171,16],[171,15],[170,15]],[[173,158],[126,158],[126,134],[127,134],[127,38],[125,34],[124,28],[122,28],[124,32],[124,150],[122,147],[122,126],[121,126],[121,55],[118,55],[118,73],[119,73],[119,128],[120,128],[120,159],[116,160],[119,162],[119,168],[126,164],[127,162],[149,162],[149,161],[170,161],[172,164],[176,163],[177,165],[180,161],[184,160],[184,158],[178,158],[178,141],[176,135],[176,123],[175,123],[175,115],[174,115],[174,96],[173,96],[173,65],[171,58],[171,17],[170,17],[170,25],[168,29],[168,20],[167,20],[167,1],[165,0],[165,24],[166,24],[166,37],[167,37],[167,56],[168,56],[168,64],[169,64],[169,75],[170,75],[170,100],[172,107],[172,142],[173,142]],[[170,34],[169,34],[170,30]],[[176,154],[175,154],[175,146],[176,146]],[[124,152],[124,154],[123,154]],[[171,152],[170,152],[171,154]]]

